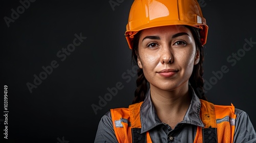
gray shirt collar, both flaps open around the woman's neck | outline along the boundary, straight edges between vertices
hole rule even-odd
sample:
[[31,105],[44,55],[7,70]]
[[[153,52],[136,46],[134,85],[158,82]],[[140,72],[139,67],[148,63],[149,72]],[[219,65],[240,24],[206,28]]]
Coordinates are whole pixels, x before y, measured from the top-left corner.
[[[189,86],[189,92],[192,94],[192,99],[183,121],[181,121],[180,124],[185,123],[204,127],[204,124],[200,119],[201,102],[191,86]],[[163,124],[156,114],[156,109],[150,96],[149,89],[140,108],[141,133],[151,130],[157,125]]]

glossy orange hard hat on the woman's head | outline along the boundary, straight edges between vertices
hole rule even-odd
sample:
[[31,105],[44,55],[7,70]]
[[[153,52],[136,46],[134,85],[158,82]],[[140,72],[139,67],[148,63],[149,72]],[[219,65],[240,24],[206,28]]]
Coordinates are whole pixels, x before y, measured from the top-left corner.
[[208,26],[197,0],[135,0],[124,35],[132,49],[134,35],[140,30],[172,25],[199,28],[201,42],[206,43]]

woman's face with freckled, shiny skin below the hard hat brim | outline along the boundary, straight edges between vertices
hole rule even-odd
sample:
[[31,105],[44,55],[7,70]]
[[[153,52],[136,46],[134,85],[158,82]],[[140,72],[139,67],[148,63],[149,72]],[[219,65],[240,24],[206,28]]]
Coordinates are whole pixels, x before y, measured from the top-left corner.
[[151,88],[174,90],[188,85],[200,56],[188,28],[164,26],[142,30],[138,46],[138,65]]

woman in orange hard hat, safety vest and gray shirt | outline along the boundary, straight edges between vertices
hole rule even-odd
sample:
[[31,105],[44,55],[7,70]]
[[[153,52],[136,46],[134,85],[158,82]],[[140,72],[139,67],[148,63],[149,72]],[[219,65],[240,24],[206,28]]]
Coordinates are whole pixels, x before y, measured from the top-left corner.
[[256,142],[246,112],[204,96],[207,31],[196,0],[135,0],[125,32],[135,98],[102,116],[95,142]]

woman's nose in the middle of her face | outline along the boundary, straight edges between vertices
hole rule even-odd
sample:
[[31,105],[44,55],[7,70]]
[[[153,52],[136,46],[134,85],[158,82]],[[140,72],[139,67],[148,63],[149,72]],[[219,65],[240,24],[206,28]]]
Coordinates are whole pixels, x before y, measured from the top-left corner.
[[173,58],[173,54],[172,54],[172,50],[170,49],[169,46],[164,46],[161,49],[161,63],[173,63],[174,58]]

